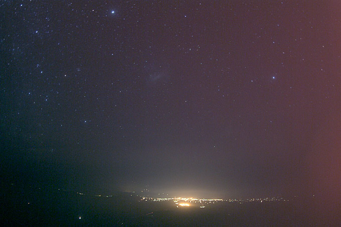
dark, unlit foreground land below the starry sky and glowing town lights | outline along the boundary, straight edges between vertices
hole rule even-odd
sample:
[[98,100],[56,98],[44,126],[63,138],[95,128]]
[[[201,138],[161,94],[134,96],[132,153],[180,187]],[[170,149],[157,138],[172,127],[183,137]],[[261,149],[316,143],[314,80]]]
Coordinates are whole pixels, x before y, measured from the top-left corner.
[[[132,193],[86,195],[58,188],[3,185],[1,222],[7,226],[338,226],[313,200],[223,202],[177,208]],[[80,218],[79,218],[80,217]]]

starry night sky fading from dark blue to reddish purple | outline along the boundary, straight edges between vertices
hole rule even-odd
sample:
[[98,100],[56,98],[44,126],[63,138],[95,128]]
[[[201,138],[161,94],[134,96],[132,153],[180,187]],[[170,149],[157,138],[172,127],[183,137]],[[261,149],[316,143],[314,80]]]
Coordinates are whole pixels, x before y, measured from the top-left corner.
[[337,0],[3,0],[2,177],[336,193],[340,15]]

